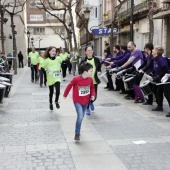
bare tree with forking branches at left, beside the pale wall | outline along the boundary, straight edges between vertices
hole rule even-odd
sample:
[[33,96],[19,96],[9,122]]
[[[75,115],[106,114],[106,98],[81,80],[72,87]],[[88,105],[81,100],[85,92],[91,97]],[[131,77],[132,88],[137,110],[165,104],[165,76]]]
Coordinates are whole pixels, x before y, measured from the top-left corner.
[[16,31],[15,31],[15,24],[14,24],[14,16],[24,10],[24,6],[25,6],[26,2],[27,2],[27,0],[4,1],[4,5],[5,5],[5,3],[8,3],[9,9],[5,8],[5,11],[9,14],[10,19],[11,19],[11,30],[12,30],[12,40],[13,40],[13,56],[15,57],[13,59],[14,74],[17,74],[17,45],[16,45],[16,38],[15,38]]

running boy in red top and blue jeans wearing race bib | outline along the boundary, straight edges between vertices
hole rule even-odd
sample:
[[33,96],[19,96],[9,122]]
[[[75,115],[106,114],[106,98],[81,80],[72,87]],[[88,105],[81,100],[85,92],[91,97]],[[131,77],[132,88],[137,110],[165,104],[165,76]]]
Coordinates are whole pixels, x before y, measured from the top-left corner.
[[95,100],[95,89],[92,79],[93,66],[87,62],[80,65],[79,76],[74,77],[64,91],[67,97],[73,87],[73,102],[77,112],[74,140],[80,140],[80,130],[84,114],[90,100]]

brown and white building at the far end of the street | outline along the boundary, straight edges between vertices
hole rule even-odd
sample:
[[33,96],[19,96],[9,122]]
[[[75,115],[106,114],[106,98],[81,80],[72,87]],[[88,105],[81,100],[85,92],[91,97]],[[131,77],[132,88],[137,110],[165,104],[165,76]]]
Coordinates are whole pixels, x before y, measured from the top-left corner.
[[[57,0],[50,0],[50,5],[56,9],[63,7]],[[48,3],[45,4],[45,7],[48,9]],[[50,12],[63,19],[64,12],[62,10],[51,10]],[[44,50],[49,46],[65,48],[64,41],[59,36],[65,34],[63,24],[46,12],[39,0],[27,2],[27,30],[31,33],[29,47],[34,45],[38,50]]]

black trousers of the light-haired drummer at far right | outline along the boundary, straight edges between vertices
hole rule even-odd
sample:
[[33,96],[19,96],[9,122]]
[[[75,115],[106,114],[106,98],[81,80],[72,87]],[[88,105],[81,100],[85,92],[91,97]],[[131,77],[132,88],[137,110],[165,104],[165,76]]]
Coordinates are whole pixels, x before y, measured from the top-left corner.
[[153,87],[153,93],[156,97],[156,103],[159,107],[163,106],[163,92],[164,92],[164,85],[159,85],[156,86],[154,85]]

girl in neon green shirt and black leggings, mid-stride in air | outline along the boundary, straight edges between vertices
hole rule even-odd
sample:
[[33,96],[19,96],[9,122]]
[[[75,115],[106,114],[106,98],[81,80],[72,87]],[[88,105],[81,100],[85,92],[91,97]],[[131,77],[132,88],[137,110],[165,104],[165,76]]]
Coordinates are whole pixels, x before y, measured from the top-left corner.
[[45,52],[45,61],[43,68],[46,70],[47,83],[49,86],[49,107],[53,110],[53,93],[54,88],[56,91],[55,104],[56,108],[59,109],[58,103],[60,95],[60,82],[61,82],[61,63],[62,59],[56,57],[56,47],[49,47]]

